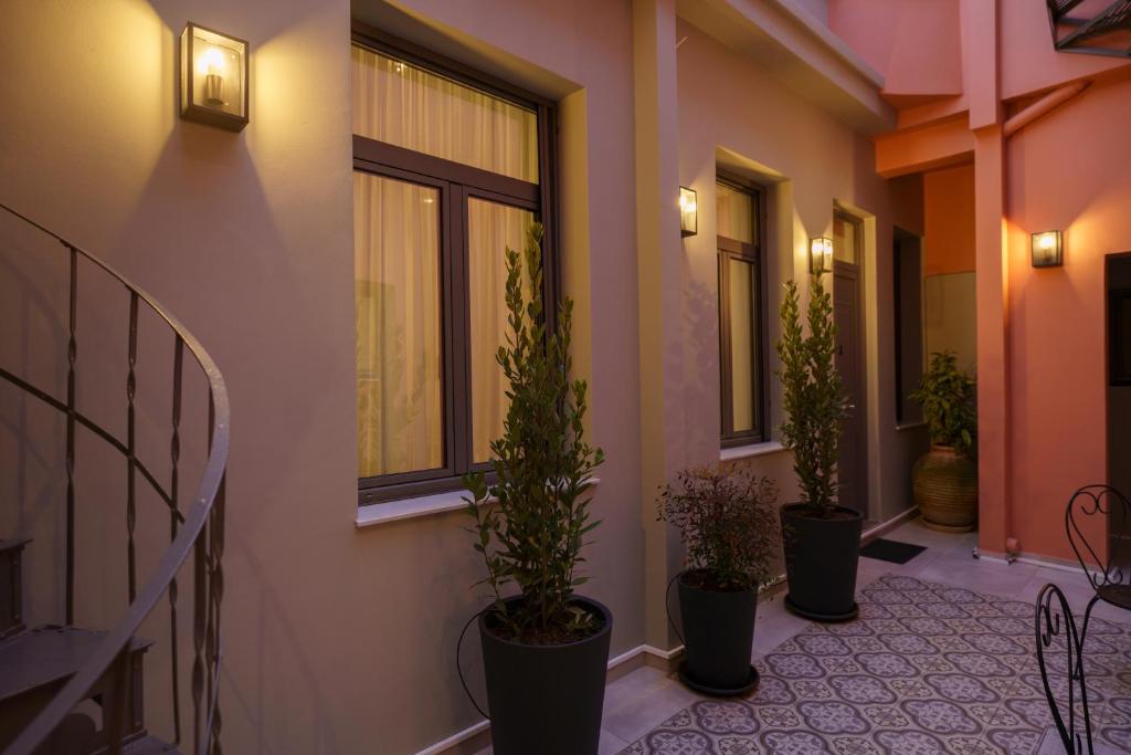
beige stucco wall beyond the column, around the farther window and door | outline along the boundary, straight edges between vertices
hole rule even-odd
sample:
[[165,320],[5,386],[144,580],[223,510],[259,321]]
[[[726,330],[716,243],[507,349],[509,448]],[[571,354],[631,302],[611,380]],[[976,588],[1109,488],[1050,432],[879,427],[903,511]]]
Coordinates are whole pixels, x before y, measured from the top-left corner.
[[[811,237],[831,235],[834,204],[865,217],[865,341],[869,362],[867,434],[870,515],[887,520],[909,505],[910,462],[921,453],[922,431],[896,430],[893,391],[893,307],[891,226],[908,187],[875,175],[872,146],[826,111],[783,86],[765,69],[720,45],[690,24],[679,37],[680,182],[699,192],[699,233],[684,240],[684,405],[689,412],[688,458],[718,458],[718,273],[714,218],[715,173],[719,168],[744,173],[767,187],[769,340],[780,332],[777,308],[782,286],[808,281]],[[918,230],[917,217],[901,225]],[[803,288],[806,284],[803,283]],[[776,366],[770,354],[770,369]],[[782,421],[780,386],[771,379],[770,415]],[[746,462],[776,478],[782,500],[795,500],[797,488],[788,453]]]

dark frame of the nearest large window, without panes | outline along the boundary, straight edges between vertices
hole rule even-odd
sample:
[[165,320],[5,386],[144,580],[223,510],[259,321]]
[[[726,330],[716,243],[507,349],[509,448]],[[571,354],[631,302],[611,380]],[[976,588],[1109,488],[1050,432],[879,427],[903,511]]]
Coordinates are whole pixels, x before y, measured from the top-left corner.
[[[493,173],[483,169],[353,135],[353,169],[379,177],[431,186],[440,191],[440,323],[443,401],[443,464],[417,470],[359,477],[357,505],[414,498],[463,489],[461,475],[490,465],[472,462],[470,407],[470,301],[467,271],[467,199],[476,197],[532,212],[543,224],[543,301],[547,326],[553,327],[559,301],[559,230],[555,104],[530,92],[481,74],[463,63],[394,37],[354,20],[352,44],[403,60],[478,89],[537,115],[538,182]],[[552,304],[552,306],[551,306]]]

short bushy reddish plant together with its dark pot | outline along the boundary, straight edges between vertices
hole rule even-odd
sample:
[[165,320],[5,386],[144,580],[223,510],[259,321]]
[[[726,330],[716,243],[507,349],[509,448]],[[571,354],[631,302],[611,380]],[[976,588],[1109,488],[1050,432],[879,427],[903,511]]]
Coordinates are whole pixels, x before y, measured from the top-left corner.
[[758,590],[774,576],[777,488],[735,467],[702,466],[661,489],[659,518],[687,548],[677,576],[684,661],[680,678],[708,695],[758,685],[750,664]]

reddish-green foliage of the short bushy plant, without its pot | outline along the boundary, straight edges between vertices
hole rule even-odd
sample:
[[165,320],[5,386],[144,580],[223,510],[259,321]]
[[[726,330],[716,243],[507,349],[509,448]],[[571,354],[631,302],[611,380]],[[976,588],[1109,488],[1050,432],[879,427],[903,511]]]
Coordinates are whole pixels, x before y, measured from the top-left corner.
[[749,471],[698,466],[661,488],[659,518],[674,524],[696,586],[754,590],[774,576],[777,486]]

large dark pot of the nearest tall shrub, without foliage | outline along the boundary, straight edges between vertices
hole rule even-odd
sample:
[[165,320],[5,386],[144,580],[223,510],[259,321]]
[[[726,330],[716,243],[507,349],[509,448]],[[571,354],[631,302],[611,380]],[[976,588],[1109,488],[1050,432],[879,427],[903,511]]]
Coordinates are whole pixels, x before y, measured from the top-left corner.
[[613,615],[588,598],[578,597],[575,602],[603,619],[604,626],[564,645],[503,640],[487,627],[487,615],[480,616],[491,744],[497,755],[597,752]]

